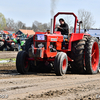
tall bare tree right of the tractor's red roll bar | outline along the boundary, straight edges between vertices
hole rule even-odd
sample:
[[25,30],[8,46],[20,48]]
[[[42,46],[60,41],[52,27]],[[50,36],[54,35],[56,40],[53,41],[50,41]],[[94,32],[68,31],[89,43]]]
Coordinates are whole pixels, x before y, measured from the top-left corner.
[[83,29],[90,29],[95,24],[91,12],[85,11],[84,9],[78,10],[78,19],[82,21],[81,27]]

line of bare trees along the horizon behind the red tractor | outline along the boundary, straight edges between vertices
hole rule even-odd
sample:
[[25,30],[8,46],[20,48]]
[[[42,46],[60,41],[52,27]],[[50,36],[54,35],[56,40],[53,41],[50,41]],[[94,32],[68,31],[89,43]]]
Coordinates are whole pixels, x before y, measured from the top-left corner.
[[[93,16],[91,14],[91,12],[86,11],[84,9],[80,9],[78,10],[78,19],[79,21],[82,21],[81,24],[81,28],[82,29],[90,29],[93,27],[93,25],[95,24],[95,21],[93,19]],[[71,26],[71,20],[69,20],[69,18],[67,18],[66,21],[70,28],[72,28]],[[31,29],[36,31],[46,31],[47,29],[50,29],[50,22],[49,23],[41,23],[38,21],[34,21],[32,26],[27,27],[25,23],[23,23],[22,21],[18,21],[18,22],[14,22],[13,19],[6,19],[5,16],[0,13],[0,30],[7,30],[7,31],[18,31],[19,29]]]

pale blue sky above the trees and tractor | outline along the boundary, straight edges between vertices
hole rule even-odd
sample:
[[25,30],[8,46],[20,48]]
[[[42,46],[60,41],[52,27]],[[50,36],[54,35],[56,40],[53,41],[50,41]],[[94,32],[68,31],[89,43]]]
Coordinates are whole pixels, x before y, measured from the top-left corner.
[[74,12],[77,16],[78,10],[84,9],[93,16],[93,28],[100,28],[100,0],[0,0],[0,13],[15,22],[22,21],[27,27],[34,21],[50,22],[52,9],[54,14]]

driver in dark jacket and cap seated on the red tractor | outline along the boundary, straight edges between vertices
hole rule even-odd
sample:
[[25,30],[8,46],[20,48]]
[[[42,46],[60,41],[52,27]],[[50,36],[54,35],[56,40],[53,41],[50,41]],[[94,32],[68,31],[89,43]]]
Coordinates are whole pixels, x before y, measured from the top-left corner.
[[69,34],[69,26],[67,23],[65,23],[63,18],[59,19],[60,26],[58,26],[57,31],[60,31],[61,34],[63,35],[63,45],[65,45],[65,39],[68,39],[68,34]]

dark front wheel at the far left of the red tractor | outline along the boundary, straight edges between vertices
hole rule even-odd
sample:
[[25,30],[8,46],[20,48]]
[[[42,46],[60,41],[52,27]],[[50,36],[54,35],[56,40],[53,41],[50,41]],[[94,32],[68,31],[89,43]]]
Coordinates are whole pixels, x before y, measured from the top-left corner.
[[20,51],[16,59],[17,71],[21,74],[29,72],[29,62],[27,61],[28,54],[25,51]]

